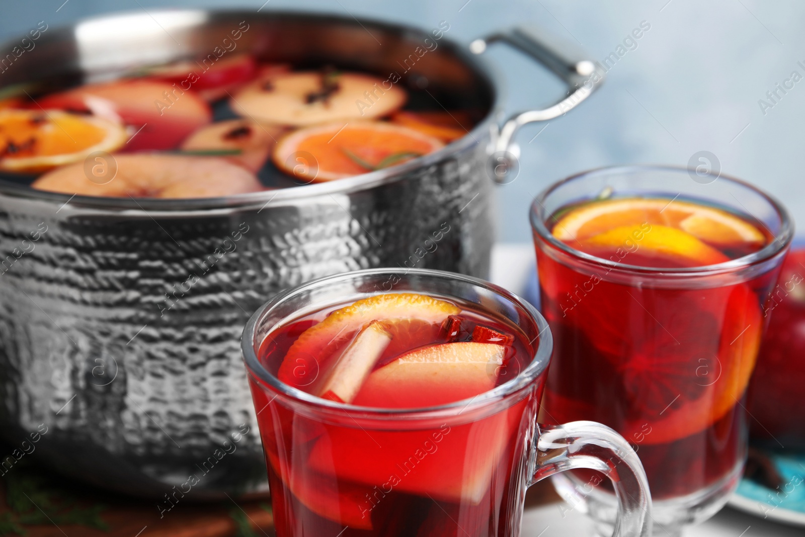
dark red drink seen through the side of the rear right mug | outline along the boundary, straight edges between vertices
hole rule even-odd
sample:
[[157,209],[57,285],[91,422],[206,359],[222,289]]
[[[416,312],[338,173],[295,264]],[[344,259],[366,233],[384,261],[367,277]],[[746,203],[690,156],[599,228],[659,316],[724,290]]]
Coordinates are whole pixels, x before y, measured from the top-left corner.
[[[554,246],[536,242],[555,342],[540,421],[614,428],[638,451],[654,499],[734,477],[745,458],[742,401],[765,324],[761,304],[777,271],[663,287],[651,276],[560,262]],[[726,258],[750,253],[741,245],[718,250]],[[593,254],[609,259],[614,249]],[[639,249],[616,260],[677,266]]]

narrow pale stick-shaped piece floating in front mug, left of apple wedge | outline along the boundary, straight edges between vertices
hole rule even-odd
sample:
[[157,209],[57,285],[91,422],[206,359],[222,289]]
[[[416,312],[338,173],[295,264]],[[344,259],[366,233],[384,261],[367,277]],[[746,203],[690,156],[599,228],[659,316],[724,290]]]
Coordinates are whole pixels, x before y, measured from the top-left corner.
[[[361,329],[352,343],[341,353],[322,388],[323,394],[335,395],[343,403],[352,403],[366,377],[391,343],[385,326],[373,320]],[[332,399],[332,395],[327,399]]]

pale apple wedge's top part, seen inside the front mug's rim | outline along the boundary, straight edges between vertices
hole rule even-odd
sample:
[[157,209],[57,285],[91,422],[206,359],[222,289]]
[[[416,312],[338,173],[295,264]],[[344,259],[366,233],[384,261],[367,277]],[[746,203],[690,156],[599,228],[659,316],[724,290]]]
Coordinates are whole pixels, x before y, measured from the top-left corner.
[[443,343],[412,350],[369,375],[353,403],[432,407],[491,390],[506,349],[493,343]]

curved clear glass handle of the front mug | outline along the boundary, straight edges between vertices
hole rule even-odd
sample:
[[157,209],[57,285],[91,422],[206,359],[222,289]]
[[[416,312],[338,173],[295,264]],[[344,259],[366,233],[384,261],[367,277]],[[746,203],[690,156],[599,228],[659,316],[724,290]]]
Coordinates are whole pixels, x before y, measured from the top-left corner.
[[532,456],[529,485],[555,473],[592,469],[612,481],[618,502],[613,537],[650,537],[651,495],[637,453],[613,429],[594,421],[537,425],[539,437]]

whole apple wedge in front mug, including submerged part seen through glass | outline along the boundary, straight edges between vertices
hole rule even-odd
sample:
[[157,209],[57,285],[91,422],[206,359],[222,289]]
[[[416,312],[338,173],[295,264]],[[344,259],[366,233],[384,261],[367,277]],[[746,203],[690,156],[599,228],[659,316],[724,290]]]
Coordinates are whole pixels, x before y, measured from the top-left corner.
[[[413,408],[469,399],[495,386],[504,353],[501,345],[473,342],[416,349],[369,374],[353,403]],[[483,416],[469,408],[463,423],[435,425],[433,430],[372,430],[360,456],[353,429],[326,427],[312,445],[308,467],[386,492],[390,487],[477,503],[504,475],[495,469],[520,415],[522,408]]]

